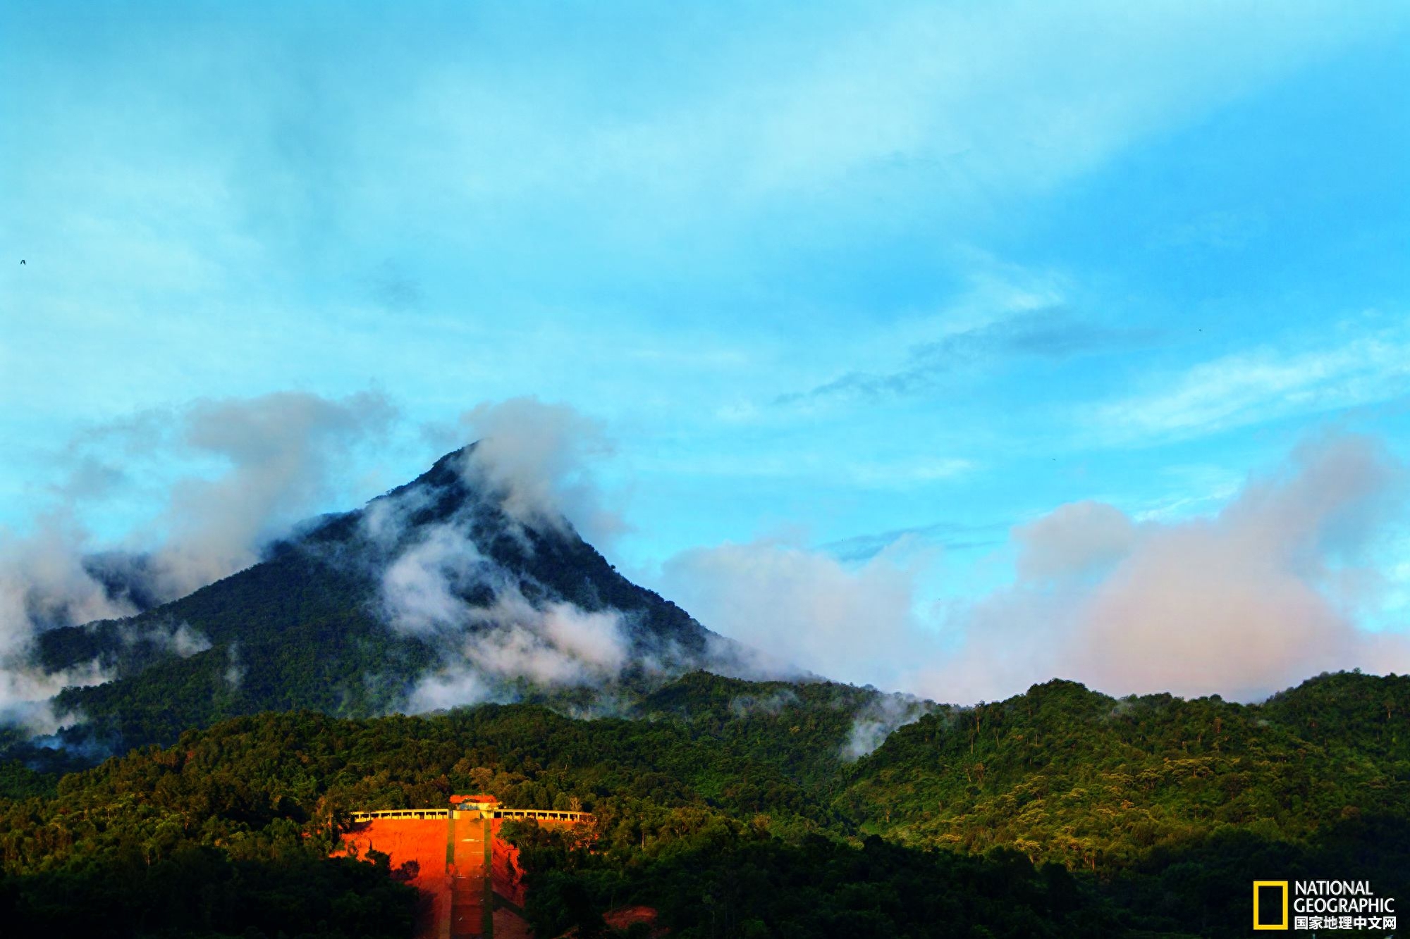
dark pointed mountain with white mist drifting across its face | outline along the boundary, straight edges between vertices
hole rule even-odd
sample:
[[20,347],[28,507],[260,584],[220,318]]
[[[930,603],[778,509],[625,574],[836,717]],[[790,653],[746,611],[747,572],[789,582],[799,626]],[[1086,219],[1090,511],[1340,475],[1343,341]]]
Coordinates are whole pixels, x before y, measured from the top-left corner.
[[59,713],[83,718],[68,736],[121,750],[259,711],[369,716],[547,698],[589,708],[605,691],[639,695],[730,654],[565,520],[512,515],[472,457],[474,446],[450,453],[189,596],[41,633],[44,670],[97,663],[110,677],[58,695]]

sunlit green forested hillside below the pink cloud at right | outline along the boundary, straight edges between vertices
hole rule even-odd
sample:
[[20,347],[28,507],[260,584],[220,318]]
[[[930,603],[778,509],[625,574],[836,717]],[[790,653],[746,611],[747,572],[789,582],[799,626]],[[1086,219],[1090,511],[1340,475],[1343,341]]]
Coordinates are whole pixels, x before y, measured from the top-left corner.
[[1410,677],[1324,675],[1262,705],[1069,681],[893,733],[839,809],[904,843],[1098,869],[1221,826],[1303,837],[1410,798]]

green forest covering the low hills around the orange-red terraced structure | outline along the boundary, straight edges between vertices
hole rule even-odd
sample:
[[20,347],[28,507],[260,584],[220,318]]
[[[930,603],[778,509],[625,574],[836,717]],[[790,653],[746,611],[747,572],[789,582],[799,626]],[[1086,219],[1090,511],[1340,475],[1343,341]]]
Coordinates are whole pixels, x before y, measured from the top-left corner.
[[0,921],[406,936],[407,871],[327,854],[354,809],[453,792],[594,812],[589,849],[509,830],[540,936],[608,935],[626,904],[687,939],[1235,936],[1275,874],[1410,897],[1410,677],[1327,674],[1259,705],[1050,681],[850,759],[877,698],[694,673],[620,718],[266,712],[90,768],[10,760]]

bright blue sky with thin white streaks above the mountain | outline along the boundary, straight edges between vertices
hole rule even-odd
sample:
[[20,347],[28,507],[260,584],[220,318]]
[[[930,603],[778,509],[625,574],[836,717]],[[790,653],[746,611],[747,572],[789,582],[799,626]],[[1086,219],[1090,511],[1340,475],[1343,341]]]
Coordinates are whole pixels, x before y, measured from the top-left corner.
[[[103,431],[199,400],[385,398],[305,506],[331,509],[532,395],[612,443],[625,570],[702,609],[742,589],[699,554],[728,546],[859,608],[897,572],[898,629],[949,654],[1060,506],[1179,526],[1308,441],[1410,458],[1407,30],[1390,3],[4,4],[0,524],[162,537],[220,460]],[[107,482],[55,491],[79,470]],[[1396,630],[1404,536],[1387,509],[1299,577]],[[1373,599],[1331,587],[1352,568]],[[893,665],[843,677],[933,689]]]

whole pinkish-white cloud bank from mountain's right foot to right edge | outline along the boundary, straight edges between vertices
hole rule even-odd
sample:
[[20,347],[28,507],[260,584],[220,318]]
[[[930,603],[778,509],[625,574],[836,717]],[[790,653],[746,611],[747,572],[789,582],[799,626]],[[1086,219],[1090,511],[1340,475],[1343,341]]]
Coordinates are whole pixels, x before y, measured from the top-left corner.
[[1362,627],[1394,602],[1372,554],[1403,522],[1403,484],[1380,443],[1332,436],[1214,515],[1138,523],[1100,502],[1063,505],[1012,530],[1011,584],[928,610],[926,558],[897,548],[852,567],[777,541],[694,548],[666,564],[661,587],[774,660],[936,701],[1053,677],[1252,699],[1327,670],[1410,668],[1410,637]]

